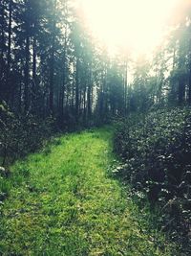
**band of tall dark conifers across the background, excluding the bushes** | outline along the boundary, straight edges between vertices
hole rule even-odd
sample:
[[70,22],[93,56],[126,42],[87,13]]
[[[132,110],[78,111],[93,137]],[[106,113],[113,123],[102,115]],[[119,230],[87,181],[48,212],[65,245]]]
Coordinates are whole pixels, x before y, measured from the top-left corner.
[[52,116],[68,128],[191,103],[187,13],[152,61],[135,61],[128,49],[111,58],[96,44],[74,1],[2,0],[0,8],[0,98],[17,116]]

